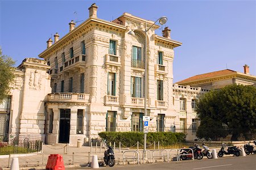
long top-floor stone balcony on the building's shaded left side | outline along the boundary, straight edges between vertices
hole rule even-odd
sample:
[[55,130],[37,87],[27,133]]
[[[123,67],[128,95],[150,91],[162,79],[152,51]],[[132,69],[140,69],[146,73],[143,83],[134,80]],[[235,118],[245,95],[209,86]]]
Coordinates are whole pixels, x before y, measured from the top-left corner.
[[80,68],[84,68],[85,60],[86,60],[85,54],[81,54],[77,57],[71,58],[68,61],[64,62],[64,66],[61,69],[61,71],[74,71]]

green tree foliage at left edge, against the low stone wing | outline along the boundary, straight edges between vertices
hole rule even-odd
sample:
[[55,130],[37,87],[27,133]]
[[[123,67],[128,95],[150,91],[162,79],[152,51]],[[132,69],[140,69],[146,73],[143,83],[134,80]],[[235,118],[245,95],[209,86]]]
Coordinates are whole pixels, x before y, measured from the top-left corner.
[[12,58],[2,55],[0,46],[0,103],[9,95],[10,83],[14,80],[15,61]]

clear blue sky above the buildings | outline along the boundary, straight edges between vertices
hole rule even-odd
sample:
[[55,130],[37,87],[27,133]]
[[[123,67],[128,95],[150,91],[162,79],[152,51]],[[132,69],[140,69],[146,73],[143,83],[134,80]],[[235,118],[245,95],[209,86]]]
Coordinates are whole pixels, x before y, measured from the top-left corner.
[[98,18],[109,21],[123,12],[148,20],[167,16],[163,28],[171,28],[171,38],[183,42],[175,48],[174,82],[226,67],[243,73],[245,64],[256,75],[255,1],[0,0],[3,54],[13,57],[16,65],[25,57],[38,57],[51,34],[63,37],[72,19],[88,19],[94,2]]

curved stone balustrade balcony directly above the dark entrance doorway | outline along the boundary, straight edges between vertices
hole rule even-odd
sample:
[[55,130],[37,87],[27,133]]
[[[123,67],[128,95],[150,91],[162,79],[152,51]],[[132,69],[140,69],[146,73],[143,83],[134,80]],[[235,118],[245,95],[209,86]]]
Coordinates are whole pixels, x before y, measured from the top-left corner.
[[52,103],[89,103],[89,94],[54,93],[48,94],[48,101]]

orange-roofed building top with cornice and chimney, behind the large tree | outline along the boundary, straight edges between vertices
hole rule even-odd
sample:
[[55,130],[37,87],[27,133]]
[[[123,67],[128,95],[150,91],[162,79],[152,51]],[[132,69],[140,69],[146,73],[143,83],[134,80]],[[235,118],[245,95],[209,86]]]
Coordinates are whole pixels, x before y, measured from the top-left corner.
[[256,76],[249,74],[249,66],[243,66],[244,73],[233,70],[220,70],[211,73],[192,76],[177,84],[183,86],[201,87],[207,90],[218,89],[230,84],[242,84],[256,87]]

